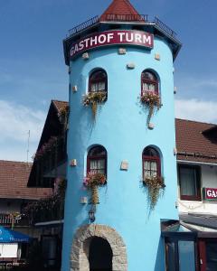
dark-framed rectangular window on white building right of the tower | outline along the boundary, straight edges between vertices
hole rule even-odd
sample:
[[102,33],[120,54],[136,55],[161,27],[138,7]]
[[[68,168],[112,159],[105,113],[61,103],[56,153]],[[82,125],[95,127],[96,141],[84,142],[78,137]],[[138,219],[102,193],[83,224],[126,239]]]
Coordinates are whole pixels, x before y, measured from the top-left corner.
[[201,173],[199,166],[179,164],[180,198],[186,201],[201,200]]

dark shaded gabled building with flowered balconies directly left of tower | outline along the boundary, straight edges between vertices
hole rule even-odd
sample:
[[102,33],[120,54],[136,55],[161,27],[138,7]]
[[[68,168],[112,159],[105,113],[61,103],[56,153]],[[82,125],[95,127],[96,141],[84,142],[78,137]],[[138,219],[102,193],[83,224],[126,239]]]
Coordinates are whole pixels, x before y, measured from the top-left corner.
[[43,263],[48,268],[61,266],[68,113],[68,102],[52,100],[27,184],[32,190],[52,191],[41,206],[30,206],[29,211],[34,229],[40,231]]

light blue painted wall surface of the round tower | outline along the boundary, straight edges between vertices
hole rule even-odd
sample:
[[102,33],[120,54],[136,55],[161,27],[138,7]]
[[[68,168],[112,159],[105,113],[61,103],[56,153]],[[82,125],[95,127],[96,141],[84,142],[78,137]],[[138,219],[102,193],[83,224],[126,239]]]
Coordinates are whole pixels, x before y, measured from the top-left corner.
[[[161,56],[155,60],[155,53]],[[127,70],[127,63],[136,65]],[[88,91],[91,70],[102,68],[108,74],[108,100],[99,107],[96,123],[91,109],[82,106],[82,95]],[[146,127],[146,110],[139,102],[141,72],[156,70],[160,79],[163,107],[152,118],[154,130]],[[68,168],[65,203],[62,270],[70,270],[73,235],[82,224],[89,223],[90,205],[80,204],[86,175],[86,155],[91,145],[103,145],[108,152],[108,184],[99,189],[97,224],[116,229],[127,246],[128,271],[165,270],[164,245],[160,238],[160,219],[177,219],[174,79],[172,51],[163,40],[155,38],[154,49],[147,51],[127,47],[126,55],[118,55],[118,47],[90,51],[90,60],[81,56],[71,62],[69,160],[77,159],[76,167]],[[147,145],[156,145],[162,154],[165,195],[148,217],[147,194],[142,180],[142,153]],[[127,160],[128,171],[120,171]]]

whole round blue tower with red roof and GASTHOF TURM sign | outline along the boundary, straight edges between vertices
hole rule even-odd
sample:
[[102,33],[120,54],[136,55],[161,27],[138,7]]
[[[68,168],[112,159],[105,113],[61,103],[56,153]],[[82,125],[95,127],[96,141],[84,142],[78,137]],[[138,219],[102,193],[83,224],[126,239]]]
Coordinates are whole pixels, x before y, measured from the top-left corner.
[[63,41],[70,73],[62,271],[163,271],[177,220],[174,66],[181,43],[114,0]]

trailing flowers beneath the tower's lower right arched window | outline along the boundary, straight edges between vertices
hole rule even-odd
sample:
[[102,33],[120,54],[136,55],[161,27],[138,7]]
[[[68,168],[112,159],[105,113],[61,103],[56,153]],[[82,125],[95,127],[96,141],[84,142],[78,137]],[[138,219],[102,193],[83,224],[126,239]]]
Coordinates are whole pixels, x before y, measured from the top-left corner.
[[146,177],[143,183],[147,188],[150,210],[154,210],[159,197],[164,194],[165,179],[160,176],[150,176]]

